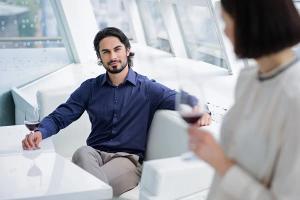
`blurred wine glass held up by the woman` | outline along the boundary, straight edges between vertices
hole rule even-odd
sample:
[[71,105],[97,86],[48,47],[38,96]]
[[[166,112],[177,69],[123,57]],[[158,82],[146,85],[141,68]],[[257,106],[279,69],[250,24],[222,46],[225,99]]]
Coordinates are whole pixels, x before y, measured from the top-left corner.
[[[181,117],[193,126],[205,112],[204,91],[202,84],[192,79],[180,80],[179,94],[176,99],[176,110]],[[195,160],[198,158],[194,152],[188,151],[181,154],[184,160]]]

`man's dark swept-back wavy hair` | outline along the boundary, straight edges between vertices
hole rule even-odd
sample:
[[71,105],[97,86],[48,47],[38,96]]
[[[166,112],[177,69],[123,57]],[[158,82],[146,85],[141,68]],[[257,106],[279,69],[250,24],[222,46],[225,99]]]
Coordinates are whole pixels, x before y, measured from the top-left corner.
[[[116,27],[106,27],[106,28],[103,28],[102,30],[100,30],[96,34],[94,41],[93,41],[94,50],[96,51],[97,58],[100,57],[99,43],[103,38],[108,37],[108,36],[114,36],[114,37],[119,38],[119,40],[125,45],[126,50],[127,50],[127,48],[129,48],[129,50],[130,50],[131,45],[129,43],[129,39],[128,39],[128,37],[126,37],[126,35],[120,29],[118,29]],[[133,66],[133,60],[132,60],[133,57],[134,57],[134,52],[130,51],[129,55],[127,56],[127,61],[128,61],[129,66]],[[102,65],[102,61],[100,59],[98,59],[98,65]]]

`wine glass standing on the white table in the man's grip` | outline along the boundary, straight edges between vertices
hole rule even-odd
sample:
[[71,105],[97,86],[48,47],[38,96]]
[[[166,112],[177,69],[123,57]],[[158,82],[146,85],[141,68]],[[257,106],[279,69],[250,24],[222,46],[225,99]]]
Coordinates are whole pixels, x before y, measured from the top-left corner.
[[[34,130],[39,126],[39,114],[37,108],[27,108],[25,110],[25,126],[31,131],[32,143],[34,145]],[[40,149],[40,147],[31,147],[31,150]]]

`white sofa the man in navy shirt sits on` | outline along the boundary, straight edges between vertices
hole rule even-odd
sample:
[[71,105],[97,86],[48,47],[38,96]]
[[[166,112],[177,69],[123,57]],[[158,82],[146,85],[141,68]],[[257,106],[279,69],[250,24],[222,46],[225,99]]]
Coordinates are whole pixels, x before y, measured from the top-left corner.
[[[60,103],[65,102],[74,90],[74,86],[38,90],[36,97],[38,107],[41,110],[41,118],[52,112]],[[70,159],[73,152],[78,147],[86,145],[86,138],[90,129],[90,121],[87,113],[84,112],[77,121],[52,136],[55,151],[63,157]],[[203,162],[182,162],[180,157],[175,157],[187,151],[188,138],[187,134],[185,134],[185,129],[186,124],[183,119],[178,116],[176,111],[156,111],[147,134],[147,150],[145,152],[141,183],[135,188],[119,196],[113,197],[113,199],[139,199],[140,185],[142,185],[143,188],[143,192],[141,192],[140,195],[141,200],[181,199],[183,196],[189,194],[195,195],[197,192],[208,189],[213,174],[211,167]],[[170,159],[169,157],[174,158]],[[185,168],[188,168],[188,170]],[[204,178],[203,176],[201,178],[199,171],[203,171]],[[177,176],[174,174],[177,174]],[[198,174],[199,176],[195,174]],[[173,179],[170,180],[165,177],[173,177]],[[186,177],[187,182],[184,181],[184,177]],[[196,186],[194,183],[197,181],[204,183]],[[191,182],[193,185],[188,184],[188,182]],[[181,189],[181,192],[172,192],[172,195],[169,195],[168,197],[168,192],[171,191],[168,191],[167,189],[161,191],[159,189],[169,189],[169,187],[166,187],[165,185],[172,185],[172,189]]]

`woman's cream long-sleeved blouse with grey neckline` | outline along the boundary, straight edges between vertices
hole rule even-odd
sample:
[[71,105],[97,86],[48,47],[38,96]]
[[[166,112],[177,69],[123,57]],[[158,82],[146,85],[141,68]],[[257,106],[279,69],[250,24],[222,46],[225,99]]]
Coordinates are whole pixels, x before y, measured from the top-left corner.
[[[223,177],[215,173],[208,200],[300,199],[300,62],[296,58],[263,75],[256,67],[241,71],[220,143],[236,164]],[[270,187],[264,184],[268,177]]]

